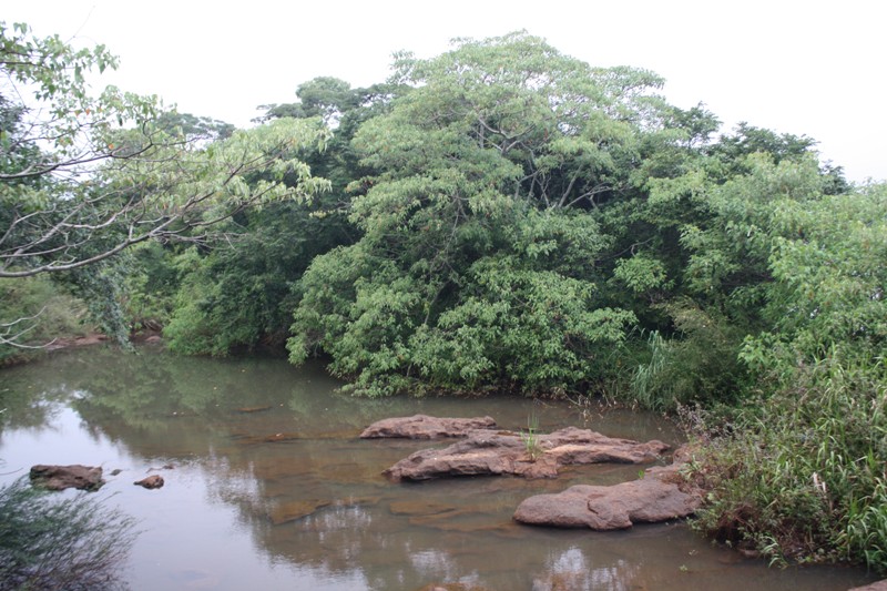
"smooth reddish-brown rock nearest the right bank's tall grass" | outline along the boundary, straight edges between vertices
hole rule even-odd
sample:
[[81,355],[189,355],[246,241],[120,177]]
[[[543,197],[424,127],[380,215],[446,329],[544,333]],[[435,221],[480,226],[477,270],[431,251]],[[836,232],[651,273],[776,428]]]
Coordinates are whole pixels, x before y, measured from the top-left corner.
[[699,509],[702,495],[679,487],[682,466],[651,468],[638,480],[610,487],[578,485],[557,495],[537,495],[518,506],[514,520],[532,526],[614,530],[687,517]]

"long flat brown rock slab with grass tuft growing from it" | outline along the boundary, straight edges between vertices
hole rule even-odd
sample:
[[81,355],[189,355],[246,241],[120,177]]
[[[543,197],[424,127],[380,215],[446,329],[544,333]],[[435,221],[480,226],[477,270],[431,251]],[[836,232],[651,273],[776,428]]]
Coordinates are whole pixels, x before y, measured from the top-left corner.
[[554,478],[561,466],[619,462],[646,463],[669,449],[662,441],[640,444],[588,429],[568,427],[550,435],[472,430],[465,440],[442,449],[417,451],[385,471],[392,480],[428,480],[448,476]]

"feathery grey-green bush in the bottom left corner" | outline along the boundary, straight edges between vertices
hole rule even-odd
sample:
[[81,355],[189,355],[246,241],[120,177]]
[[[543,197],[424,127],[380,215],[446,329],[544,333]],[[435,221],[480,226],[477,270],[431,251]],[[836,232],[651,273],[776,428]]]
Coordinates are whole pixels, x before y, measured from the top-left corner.
[[22,478],[0,489],[0,589],[125,589],[134,521],[82,492],[54,498]]

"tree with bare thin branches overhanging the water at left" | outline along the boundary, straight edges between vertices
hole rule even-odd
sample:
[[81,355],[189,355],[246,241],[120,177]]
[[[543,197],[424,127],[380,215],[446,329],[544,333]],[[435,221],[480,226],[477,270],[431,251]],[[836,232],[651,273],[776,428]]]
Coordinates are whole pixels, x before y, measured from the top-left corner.
[[[328,139],[317,119],[232,132],[165,112],[155,96],[93,95],[89,74],[116,64],[103,45],[77,50],[0,23],[0,277],[65,273],[94,285],[108,277],[98,265],[135,244],[207,242],[249,206],[328,188],[303,160]],[[0,343],[11,344],[19,319],[2,322]]]

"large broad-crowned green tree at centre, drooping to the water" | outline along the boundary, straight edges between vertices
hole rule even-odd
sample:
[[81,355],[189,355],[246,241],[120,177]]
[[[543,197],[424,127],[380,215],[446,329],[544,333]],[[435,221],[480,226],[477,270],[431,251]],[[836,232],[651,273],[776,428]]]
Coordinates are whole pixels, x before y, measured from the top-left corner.
[[598,379],[633,316],[600,299],[591,212],[632,190],[661,79],[519,32],[401,54],[391,83],[410,90],[353,142],[364,235],[305,274],[290,358],[323,349],[368,394]]

